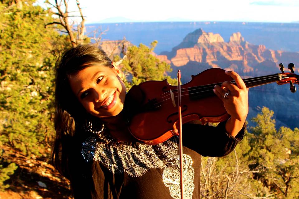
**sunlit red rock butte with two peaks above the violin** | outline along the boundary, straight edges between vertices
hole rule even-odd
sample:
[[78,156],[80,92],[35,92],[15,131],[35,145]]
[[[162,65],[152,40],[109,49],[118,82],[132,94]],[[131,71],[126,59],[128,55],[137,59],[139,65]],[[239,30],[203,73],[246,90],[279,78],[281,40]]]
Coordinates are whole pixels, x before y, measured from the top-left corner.
[[250,44],[244,41],[240,32],[233,33],[229,42],[224,42],[219,34],[206,33],[202,29],[189,33],[181,44],[165,56],[173,67],[187,66],[189,62],[207,63],[211,67],[238,71],[244,76],[279,72],[280,62],[285,65],[289,62],[299,64],[299,53],[275,51],[264,45]]

